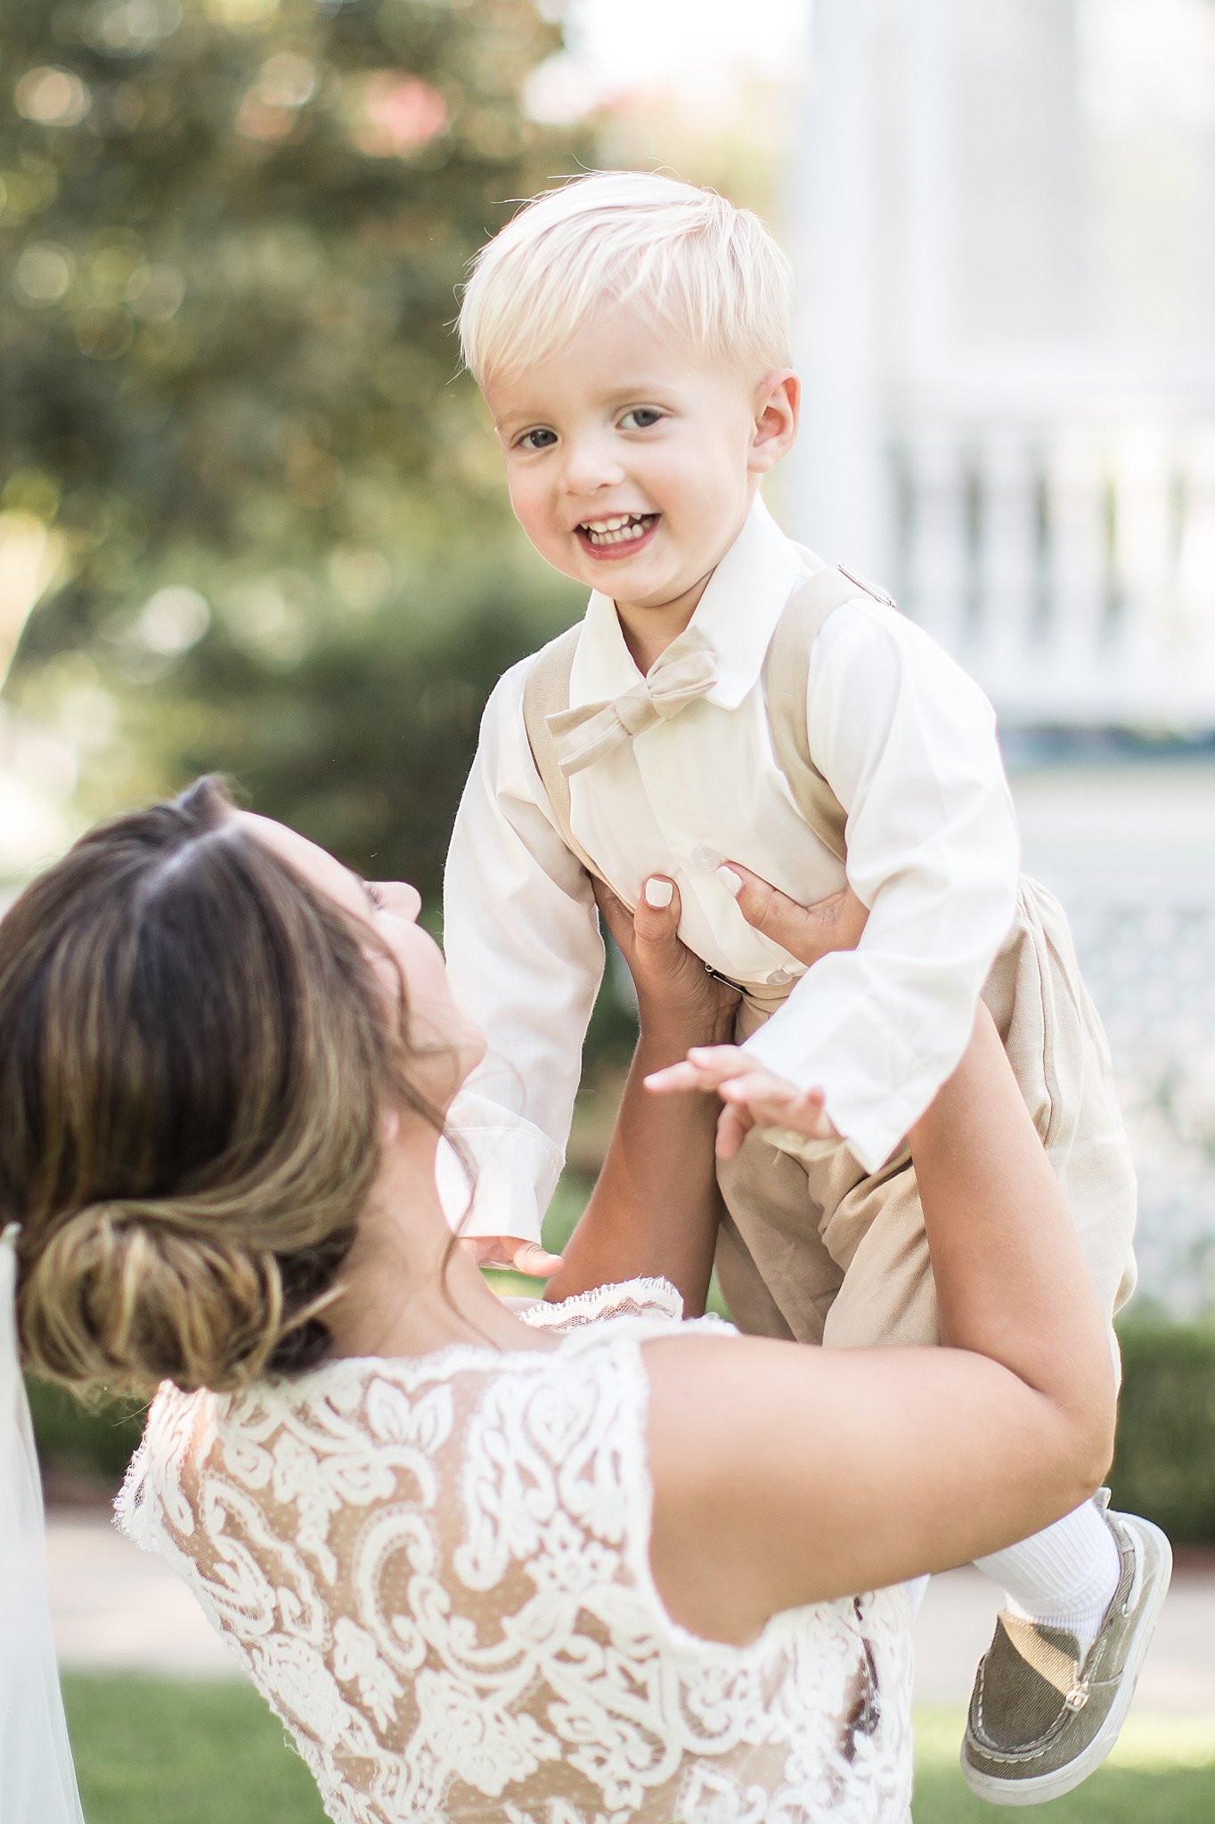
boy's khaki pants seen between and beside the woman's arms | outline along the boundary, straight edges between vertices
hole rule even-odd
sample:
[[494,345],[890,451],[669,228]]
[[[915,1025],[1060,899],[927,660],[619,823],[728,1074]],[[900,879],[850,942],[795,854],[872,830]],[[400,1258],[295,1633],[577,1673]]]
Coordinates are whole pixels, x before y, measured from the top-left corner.
[[[1113,1319],[1135,1288],[1135,1169],[1109,1047],[1067,919],[1036,881],[1022,879],[1016,925],[983,1000]],[[746,1001],[739,1040],[770,1012]],[[803,1162],[752,1133],[733,1158],[721,1160],[719,1184],[726,1217],[717,1275],[741,1330],[836,1348],[940,1341],[929,1240],[905,1147],[870,1176],[845,1145]]]

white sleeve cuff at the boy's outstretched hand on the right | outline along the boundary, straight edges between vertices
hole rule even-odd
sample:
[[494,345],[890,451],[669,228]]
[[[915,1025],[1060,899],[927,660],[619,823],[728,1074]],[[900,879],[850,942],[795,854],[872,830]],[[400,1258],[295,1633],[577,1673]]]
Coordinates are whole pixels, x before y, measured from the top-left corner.
[[[830,1001],[836,1000],[832,994]],[[821,1089],[826,1118],[848,1151],[867,1173],[879,1171],[952,1065],[934,1078],[872,1001],[857,1005],[848,996],[846,1005],[841,1000],[837,1005],[797,1009],[794,1020],[784,1014],[786,1009],[781,1009],[742,1049],[795,1089]],[[772,1129],[772,1135],[781,1135],[772,1144],[783,1153],[806,1160],[823,1158],[839,1145],[837,1140],[808,1140],[788,1129]]]

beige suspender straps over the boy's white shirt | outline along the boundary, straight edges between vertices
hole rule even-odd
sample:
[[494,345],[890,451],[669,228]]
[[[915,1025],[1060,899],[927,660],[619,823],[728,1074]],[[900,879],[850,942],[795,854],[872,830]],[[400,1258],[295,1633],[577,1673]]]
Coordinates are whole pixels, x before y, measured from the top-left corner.
[[[768,726],[777,764],[788,779],[794,803],[808,826],[830,852],[845,857],[846,814],[823,773],[810,757],[810,737],[806,730],[806,688],[810,679],[810,648],[817,633],[837,607],[856,602],[859,595],[872,595],[878,602],[890,602],[872,584],[850,576],[846,571],[815,571],[801,589],[797,589],[777,620],[768,657],[764,658],[764,695],[768,702]],[[524,682],[524,728],[531,757],[536,762],[540,782],[553,806],[553,817],[566,846],[578,857],[582,866],[595,879],[604,879],[591,857],[578,843],[569,824],[569,781],[556,764],[553,737],[547,717],[569,708],[569,675],[573,671],[575,651],[582,627],[569,627],[544,646]]]

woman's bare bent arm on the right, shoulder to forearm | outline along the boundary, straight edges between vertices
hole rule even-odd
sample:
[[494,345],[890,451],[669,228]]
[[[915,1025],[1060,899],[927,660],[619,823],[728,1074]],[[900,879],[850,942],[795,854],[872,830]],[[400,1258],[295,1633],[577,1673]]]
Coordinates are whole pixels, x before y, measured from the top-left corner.
[[1011,1545],[1109,1463],[1106,1324],[985,1009],[910,1142],[941,1348],[646,1344],[653,1567],[699,1632],[746,1640],[779,1609]]

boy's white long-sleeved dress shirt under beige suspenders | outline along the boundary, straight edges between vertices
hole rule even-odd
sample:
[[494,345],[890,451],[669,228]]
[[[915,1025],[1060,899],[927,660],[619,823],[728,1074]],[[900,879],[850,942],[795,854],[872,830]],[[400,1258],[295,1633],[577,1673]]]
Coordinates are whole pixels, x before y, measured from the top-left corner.
[[[797,812],[768,728],[763,664],[792,591],[823,564],[757,500],[693,615],[719,660],[710,693],[571,779],[571,824],[626,905],[649,874],[682,903],[680,938],[735,981],[795,981],[748,1051],[801,1089],[876,1171],[958,1063],[1016,908],[1018,834],[994,713],[898,609],[870,596],[819,631],[810,751],[846,812],[846,865]],[[591,883],[556,832],[522,717],[531,658],[482,722],[445,885],[458,1005],[489,1056],[452,1118],[478,1167],[467,1233],[538,1237],[578,1087],[604,947]],[[569,702],[639,680],[609,596],[591,595]],[[746,923],[717,876],[741,861],[810,903],[846,879],[868,907],[856,950],[806,970]],[[451,1206],[449,1206],[451,1207]]]

